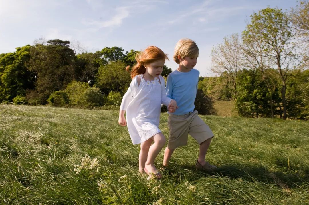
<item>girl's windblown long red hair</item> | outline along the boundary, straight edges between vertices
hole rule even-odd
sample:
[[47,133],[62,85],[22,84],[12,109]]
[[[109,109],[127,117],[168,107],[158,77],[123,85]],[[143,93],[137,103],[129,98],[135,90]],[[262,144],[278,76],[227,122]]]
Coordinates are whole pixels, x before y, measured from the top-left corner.
[[[168,60],[167,54],[156,46],[149,46],[144,51],[138,52],[135,56],[137,64],[133,66],[131,78],[144,74],[146,72],[145,65],[160,60]],[[129,71],[129,66],[126,68]]]

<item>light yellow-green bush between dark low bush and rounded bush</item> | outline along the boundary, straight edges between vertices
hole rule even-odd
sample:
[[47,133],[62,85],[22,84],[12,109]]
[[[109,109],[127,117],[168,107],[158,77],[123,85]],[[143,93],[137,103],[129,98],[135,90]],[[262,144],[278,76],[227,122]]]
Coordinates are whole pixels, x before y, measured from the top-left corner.
[[84,94],[88,88],[90,88],[88,83],[77,81],[70,82],[65,89],[70,100],[70,105],[81,106],[85,101]]

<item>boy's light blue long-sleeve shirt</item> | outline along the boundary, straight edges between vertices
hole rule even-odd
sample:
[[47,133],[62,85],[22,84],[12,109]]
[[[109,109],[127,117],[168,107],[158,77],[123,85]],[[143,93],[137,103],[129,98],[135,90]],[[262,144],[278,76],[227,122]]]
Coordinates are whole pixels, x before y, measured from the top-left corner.
[[197,69],[187,73],[175,70],[167,76],[166,95],[176,100],[178,106],[175,112],[168,112],[169,114],[184,115],[193,111],[199,76],[200,72]]

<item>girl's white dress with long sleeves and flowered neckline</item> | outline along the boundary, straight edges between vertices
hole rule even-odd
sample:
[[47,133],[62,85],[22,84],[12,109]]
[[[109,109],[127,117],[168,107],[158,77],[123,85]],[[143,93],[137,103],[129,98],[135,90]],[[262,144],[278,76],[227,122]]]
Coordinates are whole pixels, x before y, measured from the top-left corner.
[[[138,77],[141,78],[139,86]],[[140,144],[161,132],[158,128],[161,104],[168,105],[170,101],[171,98],[165,94],[162,76],[152,81],[146,81],[142,74],[133,78],[120,106],[121,110],[126,110],[127,126],[133,144]]]

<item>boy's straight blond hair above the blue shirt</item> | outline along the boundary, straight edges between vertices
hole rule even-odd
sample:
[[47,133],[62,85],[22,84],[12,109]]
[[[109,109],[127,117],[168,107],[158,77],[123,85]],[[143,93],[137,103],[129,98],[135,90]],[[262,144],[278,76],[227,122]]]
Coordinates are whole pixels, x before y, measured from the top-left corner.
[[178,59],[178,55],[180,55],[181,58],[185,58],[197,56],[198,53],[199,50],[195,41],[188,38],[183,38],[180,39],[175,46],[173,59],[177,64],[179,64],[180,61]]

